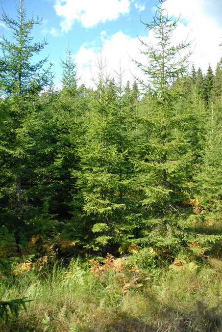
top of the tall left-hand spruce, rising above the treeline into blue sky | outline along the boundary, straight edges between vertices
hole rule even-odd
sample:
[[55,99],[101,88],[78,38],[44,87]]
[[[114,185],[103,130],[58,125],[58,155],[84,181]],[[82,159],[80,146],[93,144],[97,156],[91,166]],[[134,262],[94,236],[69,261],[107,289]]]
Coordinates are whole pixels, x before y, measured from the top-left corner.
[[[42,43],[33,43],[30,32],[41,21],[33,18],[26,19],[25,0],[19,0],[17,6],[18,19],[10,18],[4,11],[1,20],[12,32],[12,39],[2,36],[0,42],[1,65],[4,75],[1,75],[1,90],[8,95],[26,95],[40,92],[49,84],[50,67],[43,69],[47,59],[32,64],[32,57],[39,54],[47,45],[46,40]],[[42,71],[42,73],[41,73]]]

